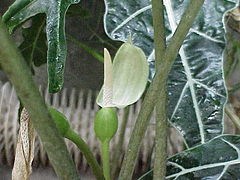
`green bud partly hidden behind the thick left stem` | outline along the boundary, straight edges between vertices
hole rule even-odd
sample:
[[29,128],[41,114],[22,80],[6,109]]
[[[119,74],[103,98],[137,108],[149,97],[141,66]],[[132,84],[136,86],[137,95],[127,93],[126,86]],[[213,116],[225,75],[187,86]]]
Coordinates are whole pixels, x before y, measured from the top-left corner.
[[63,137],[65,137],[65,134],[70,129],[70,124],[68,123],[66,116],[50,106],[48,107],[48,110],[57,126],[58,131]]

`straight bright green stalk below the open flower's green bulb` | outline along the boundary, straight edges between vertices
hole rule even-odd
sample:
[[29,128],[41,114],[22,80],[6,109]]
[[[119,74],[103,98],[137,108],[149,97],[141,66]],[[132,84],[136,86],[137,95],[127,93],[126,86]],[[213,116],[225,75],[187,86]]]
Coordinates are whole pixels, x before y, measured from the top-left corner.
[[109,156],[109,141],[101,142],[103,174],[105,180],[111,180],[110,175],[110,156]]

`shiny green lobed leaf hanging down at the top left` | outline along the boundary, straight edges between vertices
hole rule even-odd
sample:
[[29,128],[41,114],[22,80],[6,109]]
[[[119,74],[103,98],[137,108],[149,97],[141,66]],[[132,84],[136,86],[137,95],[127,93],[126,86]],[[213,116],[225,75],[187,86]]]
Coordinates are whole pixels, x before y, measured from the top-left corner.
[[3,21],[12,32],[30,17],[45,13],[48,40],[49,91],[58,92],[63,85],[66,60],[65,14],[71,4],[80,0],[16,0],[3,16]]

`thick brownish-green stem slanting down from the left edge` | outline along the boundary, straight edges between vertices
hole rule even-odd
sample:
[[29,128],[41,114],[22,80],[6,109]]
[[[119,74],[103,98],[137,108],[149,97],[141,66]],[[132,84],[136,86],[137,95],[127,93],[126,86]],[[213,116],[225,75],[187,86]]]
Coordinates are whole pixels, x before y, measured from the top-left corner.
[[61,180],[79,180],[76,167],[60,136],[47,106],[31,76],[31,71],[10,40],[5,25],[0,19],[0,64],[12,82],[18,97],[27,109],[49,160]]

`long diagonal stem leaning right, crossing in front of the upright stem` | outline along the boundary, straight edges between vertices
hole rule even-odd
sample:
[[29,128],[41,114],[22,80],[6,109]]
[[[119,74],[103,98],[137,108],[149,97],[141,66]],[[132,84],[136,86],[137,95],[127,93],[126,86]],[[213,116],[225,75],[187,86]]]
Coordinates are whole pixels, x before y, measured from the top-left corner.
[[178,28],[176,29],[170,41],[168,48],[163,55],[164,61],[158,66],[158,71],[156,72],[153,82],[151,83],[145,95],[134,129],[132,131],[128,144],[128,150],[125,154],[123,165],[120,171],[119,180],[130,180],[132,177],[139,147],[145,135],[156,99],[159,99],[160,97],[161,91],[165,86],[164,82],[166,82],[172,64],[176,59],[178,51],[203,3],[204,0],[191,0],[182,16]]

